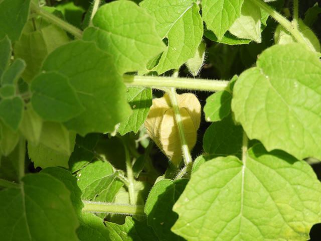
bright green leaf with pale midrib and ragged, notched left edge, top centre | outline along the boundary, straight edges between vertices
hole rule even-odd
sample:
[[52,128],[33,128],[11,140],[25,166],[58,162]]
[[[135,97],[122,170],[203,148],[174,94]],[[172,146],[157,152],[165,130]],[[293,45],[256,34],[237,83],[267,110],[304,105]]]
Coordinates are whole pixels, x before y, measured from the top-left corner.
[[168,40],[166,51],[152,71],[162,74],[170,69],[179,69],[195,56],[203,37],[203,21],[196,1],[144,0],[140,6],[155,17],[157,33]]

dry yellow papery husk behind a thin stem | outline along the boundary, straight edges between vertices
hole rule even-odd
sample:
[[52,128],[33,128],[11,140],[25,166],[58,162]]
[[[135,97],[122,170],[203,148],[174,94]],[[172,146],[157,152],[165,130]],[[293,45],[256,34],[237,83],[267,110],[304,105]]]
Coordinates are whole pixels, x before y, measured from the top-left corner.
[[[191,93],[177,94],[184,132],[189,149],[196,144],[197,130],[201,122],[201,104]],[[175,112],[170,96],[153,99],[145,121],[145,128],[150,138],[159,149],[176,165],[182,160],[182,144],[176,124]]]

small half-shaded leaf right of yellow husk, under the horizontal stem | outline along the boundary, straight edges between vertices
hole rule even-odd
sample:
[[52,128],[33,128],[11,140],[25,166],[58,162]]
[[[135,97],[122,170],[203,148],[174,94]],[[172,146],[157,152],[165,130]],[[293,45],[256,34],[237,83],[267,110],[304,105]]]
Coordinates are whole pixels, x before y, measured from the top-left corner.
[[226,91],[216,92],[206,99],[204,106],[205,119],[207,122],[217,122],[227,116],[231,111],[232,95]]

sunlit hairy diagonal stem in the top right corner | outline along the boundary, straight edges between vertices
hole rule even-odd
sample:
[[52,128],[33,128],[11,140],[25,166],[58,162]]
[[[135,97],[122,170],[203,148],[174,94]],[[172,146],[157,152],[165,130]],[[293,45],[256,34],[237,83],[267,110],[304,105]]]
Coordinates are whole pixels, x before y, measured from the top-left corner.
[[284,18],[282,15],[280,15],[278,12],[276,12],[273,8],[271,8],[269,5],[264,3],[261,0],[251,0],[252,3],[256,4],[258,7],[263,9],[265,12],[267,12],[273,19],[275,19],[280,25],[282,25],[287,31],[289,31],[293,37],[296,39],[297,42],[305,44],[308,46],[313,52],[313,48],[305,42],[303,39],[300,31],[295,27],[293,23],[288,21],[286,18]]

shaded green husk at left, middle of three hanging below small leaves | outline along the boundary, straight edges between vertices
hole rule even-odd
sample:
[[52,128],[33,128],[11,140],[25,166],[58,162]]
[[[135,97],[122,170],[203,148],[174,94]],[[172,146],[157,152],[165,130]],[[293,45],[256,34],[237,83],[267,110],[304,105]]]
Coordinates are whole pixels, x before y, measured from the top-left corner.
[[36,145],[39,143],[42,125],[43,120],[32,108],[31,103],[26,104],[24,117],[19,130],[28,142],[32,142]]

